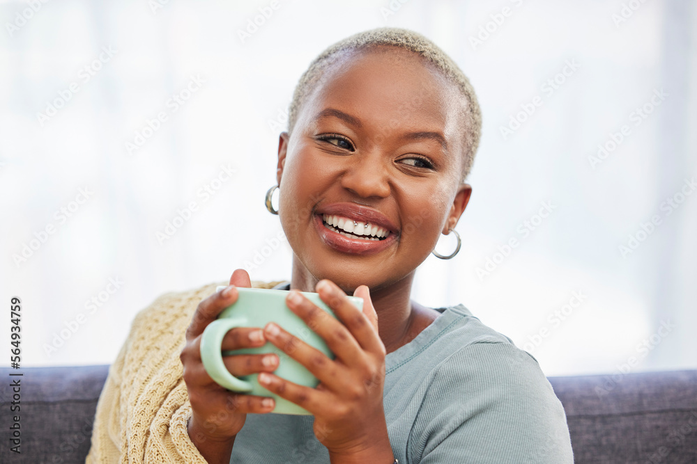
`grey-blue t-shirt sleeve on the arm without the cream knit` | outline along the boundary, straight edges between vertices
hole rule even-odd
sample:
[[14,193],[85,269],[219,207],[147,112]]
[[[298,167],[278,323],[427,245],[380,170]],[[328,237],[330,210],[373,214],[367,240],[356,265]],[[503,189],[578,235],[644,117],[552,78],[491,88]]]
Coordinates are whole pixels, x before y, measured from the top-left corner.
[[476,343],[447,358],[413,430],[415,463],[574,463],[562,403],[514,344]]

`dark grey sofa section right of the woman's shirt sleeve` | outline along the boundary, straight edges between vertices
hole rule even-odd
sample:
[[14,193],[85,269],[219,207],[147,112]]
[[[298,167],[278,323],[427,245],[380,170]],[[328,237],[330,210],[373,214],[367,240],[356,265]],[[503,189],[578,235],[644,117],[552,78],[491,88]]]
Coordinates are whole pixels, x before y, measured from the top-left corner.
[[549,377],[576,463],[697,463],[697,370]]

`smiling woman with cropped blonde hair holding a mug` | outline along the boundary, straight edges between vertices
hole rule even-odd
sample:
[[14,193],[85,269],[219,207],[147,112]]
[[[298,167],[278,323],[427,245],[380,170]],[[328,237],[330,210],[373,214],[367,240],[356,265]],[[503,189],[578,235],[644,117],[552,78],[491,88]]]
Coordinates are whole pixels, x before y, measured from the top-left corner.
[[312,415],[268,414],[273,399],[229,392],[201,365],[204,328],[252,285],[238,269],[220,292],[167,294],[139,313],[88,462],[572,463],[564,410],[535,358],[462,305],[410,300],[440,234],[457,235],[480,127],[470,83],[422,35],[375,29],[318,56],[279,138],[277,211],[267,194],[293,248],[291,280],[255,286],[318,292],[341,322],[298,292],[286,303],[337,358],[274,324],[230,330],[223,344],[270,342],[305,365],[316,389],[274,376],[275,355],[225,361]]

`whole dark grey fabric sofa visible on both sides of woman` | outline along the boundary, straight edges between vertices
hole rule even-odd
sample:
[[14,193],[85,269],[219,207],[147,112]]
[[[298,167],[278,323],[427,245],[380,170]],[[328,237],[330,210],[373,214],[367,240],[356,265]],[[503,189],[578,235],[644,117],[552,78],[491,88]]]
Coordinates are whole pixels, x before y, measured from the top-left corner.
[[[84,463],[108,366],[0,369],[1,463]],[[21,411],[10,381],[21,378]],[[549,377],[576,463],[697,463],[697,370]],[[20,415],[21,454],[8,431]],[[10,431],[11,432],[11,431]],[[450,463],[447,463],[450,464]],[[457,464],[457,463],[454,463]]]

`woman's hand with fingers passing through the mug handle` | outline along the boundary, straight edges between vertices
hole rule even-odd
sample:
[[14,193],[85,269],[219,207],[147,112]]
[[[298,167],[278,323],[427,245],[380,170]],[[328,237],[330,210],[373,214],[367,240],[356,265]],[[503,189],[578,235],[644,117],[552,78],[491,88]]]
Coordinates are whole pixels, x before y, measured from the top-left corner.
[[[249,274],[243,269],[236,269],[230,278],[230,287],[201,301],[186,330],[186,345],[180,355],[193,412],[188,426],[189,436],[209,463],[229,463],[235,435],[245,424],[247,413],[269,413],[275,406],[272,398],[226,390],[208,376],[201,363],[201,334],[204,329],[215,321],[222,310],[237,301],[236,287],[251,286]],[[261,328],[233,328],[223,339],[222,351],[263,344],[266,344],[266,338]],[[223,362],[233,376],[274,371],[278,367],[278,357],[274,354],[224,356]]]

